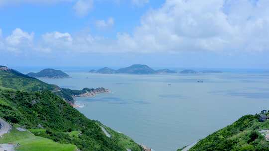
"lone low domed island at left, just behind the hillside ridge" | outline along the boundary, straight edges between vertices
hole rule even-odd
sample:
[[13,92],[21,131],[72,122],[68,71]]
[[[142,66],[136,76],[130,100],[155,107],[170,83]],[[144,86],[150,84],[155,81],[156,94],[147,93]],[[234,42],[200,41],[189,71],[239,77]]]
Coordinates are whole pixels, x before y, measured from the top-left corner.
[[67,78],[67,77],[69,77],[69,75],[67,75],[63,71],[55,70],[55,69],[51,69],[51,68],[43,69],[37,73],[31,72],[31,73],[28,73],[26,75],[28,75],[30,77],[46,77],[46,78]]

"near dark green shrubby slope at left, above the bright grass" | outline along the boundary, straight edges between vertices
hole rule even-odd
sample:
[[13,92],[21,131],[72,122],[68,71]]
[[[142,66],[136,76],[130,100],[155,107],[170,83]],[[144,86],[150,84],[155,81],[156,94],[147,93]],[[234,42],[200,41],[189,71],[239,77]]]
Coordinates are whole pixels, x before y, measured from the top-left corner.
[[133,140],[111,129],[109,132],[115,137],[108,138],[99,122],[87,119],[49,91],[0,90],[0,100],[0,117],[9,122],[15,119],[36,136],[60,144],[73,144],[81,151],[126,151],[128,144],[130,148],[137,147],[132,151],[142,151]]

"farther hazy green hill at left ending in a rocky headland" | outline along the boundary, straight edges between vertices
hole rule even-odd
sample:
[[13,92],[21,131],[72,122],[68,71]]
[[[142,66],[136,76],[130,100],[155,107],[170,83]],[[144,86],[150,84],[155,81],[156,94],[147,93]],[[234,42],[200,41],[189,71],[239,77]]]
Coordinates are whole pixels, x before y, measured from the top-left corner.
[[48,90],[62,97],[70,104],[74,103],[73,96],[76,96],[76,94],[85,94],[85,96],[87,96],[87,94],[89,95],[108,92],[108,90],[104,88],[84,88],[82,90],[62,89],[57,85],[47,84],[41,80],[24,75],[6,66],[0,66],[0,87],[27,92],[40,92]]

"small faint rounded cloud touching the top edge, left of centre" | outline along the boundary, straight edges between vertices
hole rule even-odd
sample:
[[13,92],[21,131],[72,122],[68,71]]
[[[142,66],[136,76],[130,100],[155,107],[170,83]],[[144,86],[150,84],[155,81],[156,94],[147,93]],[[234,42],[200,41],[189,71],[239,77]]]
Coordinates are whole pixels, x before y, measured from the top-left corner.
[[93,7],[93,0],[78,0],[73,6],[78,16],[86,16]]

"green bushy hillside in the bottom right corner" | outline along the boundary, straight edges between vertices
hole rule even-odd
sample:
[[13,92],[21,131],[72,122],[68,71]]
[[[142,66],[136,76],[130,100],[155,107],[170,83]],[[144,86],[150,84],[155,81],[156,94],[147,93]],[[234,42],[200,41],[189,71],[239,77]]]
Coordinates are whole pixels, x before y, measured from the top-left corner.
[[202,139],[189,151],[269,151],[269,142],[258,132],[269,128],[269,120],[258,122],[258,117],[243,116]]

